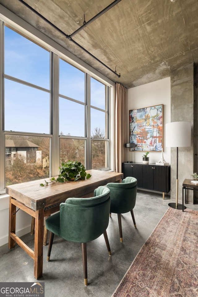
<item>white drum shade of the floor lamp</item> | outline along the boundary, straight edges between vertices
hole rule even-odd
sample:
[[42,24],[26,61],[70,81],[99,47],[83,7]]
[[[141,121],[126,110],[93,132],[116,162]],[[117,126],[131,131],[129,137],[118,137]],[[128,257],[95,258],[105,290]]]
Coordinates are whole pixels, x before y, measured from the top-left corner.
[[166,124],[167,147],[191,146],[191,122],[172,122]]

